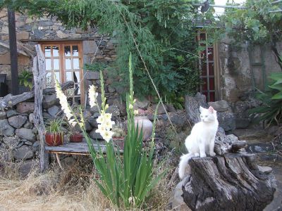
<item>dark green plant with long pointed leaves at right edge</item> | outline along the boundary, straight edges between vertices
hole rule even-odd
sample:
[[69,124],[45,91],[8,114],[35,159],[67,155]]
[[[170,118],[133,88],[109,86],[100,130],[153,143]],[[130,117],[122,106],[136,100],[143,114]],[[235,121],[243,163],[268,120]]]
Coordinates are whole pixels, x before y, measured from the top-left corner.
[[257,108],[252,108],[250,113],[259,114],[255,118],[257,122],[266,121],[271,124],[274,121],[276,124],[282,122],[282,72],[271,73],[271,85],[265,92],[259,91],[257,98],[262,101],[263,105]]

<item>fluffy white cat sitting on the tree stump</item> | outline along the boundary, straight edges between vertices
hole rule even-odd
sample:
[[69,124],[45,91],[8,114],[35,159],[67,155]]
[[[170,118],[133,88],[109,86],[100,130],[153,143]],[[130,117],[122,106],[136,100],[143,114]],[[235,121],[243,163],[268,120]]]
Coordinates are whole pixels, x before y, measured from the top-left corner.
[[185,139],[185,146],[188,149],[188,154],[180,157],[178,174],[180,179],[185,177],[188,167],[188,161],[192,157],[200,158],[208,155],[214,156],[214,139],[216,136],[219,122],[216,117],[216,110],[209,107],[209,109],[200,106],[201,122],[198,122],[192,128],[191,134]]

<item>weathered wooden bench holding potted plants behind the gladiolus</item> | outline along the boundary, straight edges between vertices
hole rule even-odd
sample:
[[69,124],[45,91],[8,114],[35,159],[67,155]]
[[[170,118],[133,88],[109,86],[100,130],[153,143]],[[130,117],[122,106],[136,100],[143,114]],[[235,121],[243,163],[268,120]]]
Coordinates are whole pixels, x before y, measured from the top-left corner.
[[[118,141],[123,141],[122,139],[118,139]],[[95,150],[98,150],[98,143],[99,147],[101,148],[103,153],[106,153],[106,145],[104,141],[93,141],[93,146]],[[74,142],[65,142],[61,146],[45,146],[45,151],[48,153],[54,153],[56,155],[56,160],[58,161],[61,170],[63,170],[63,166],[61,165],[61,160],[59,158],[60,154],[65,155],[90,155],[89,148],[87,146],[87,142],[83,139],[82,142],[74,143]],[[120,150],[123,153],[123,150]]]

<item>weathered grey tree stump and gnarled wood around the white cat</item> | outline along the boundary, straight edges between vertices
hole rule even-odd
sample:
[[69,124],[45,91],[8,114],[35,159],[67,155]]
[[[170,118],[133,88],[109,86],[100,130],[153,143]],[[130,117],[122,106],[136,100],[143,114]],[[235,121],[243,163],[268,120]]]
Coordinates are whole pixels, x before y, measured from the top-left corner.
[[[185,97],[188,120],[199,121],[205,97]],[[271,177],[259,171],[256,155],[238,152],[245,141],[235,141],[219,128],[214,157],[192,158],[183,185],[183,200],[191,210],[263,210],[273,200]]]

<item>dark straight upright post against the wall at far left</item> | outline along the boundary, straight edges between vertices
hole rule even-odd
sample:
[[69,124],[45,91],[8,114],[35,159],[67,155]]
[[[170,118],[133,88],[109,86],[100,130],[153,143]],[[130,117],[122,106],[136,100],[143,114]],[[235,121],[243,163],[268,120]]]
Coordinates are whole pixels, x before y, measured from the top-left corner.
[[18,52],[15,13],[11,8],[8,8],[8,32],[11,58],[11,91],[13,95],[16,95],[18,94]]

